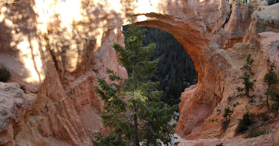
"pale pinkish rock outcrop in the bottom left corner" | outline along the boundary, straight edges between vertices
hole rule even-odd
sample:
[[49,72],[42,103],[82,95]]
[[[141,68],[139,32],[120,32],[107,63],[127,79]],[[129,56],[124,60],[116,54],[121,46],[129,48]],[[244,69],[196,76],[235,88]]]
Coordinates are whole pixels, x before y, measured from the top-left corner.
[[0,82],[0,145],[15,145],[18,123],[27,120],[26,112],[36,100],[35,94],[25,94],[17,83]]

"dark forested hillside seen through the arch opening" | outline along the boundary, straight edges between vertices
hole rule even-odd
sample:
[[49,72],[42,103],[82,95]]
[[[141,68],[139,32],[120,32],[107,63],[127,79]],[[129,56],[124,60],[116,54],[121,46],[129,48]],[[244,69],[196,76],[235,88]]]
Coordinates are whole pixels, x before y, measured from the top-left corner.
[[[123,26],[123,30],[127,28],[128,26]],[[151,80],[160,82],[159,89],[164,91],[161,101],[170,106],[179,104],[181,92],[197,83],[197,72],[193,61],[171,34],[152,27],[140,27],[140,29],[147,29],[144,33],[146,38],[142,42],[143,45],[147,46],[151,42],[157,44],[150,57],[159,58],[160,61]]]

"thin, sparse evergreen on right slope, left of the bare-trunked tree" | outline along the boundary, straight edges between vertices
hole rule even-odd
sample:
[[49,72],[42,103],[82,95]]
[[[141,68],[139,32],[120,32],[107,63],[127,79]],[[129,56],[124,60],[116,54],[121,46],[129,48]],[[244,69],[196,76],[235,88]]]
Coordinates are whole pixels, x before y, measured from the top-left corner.
[[251,54],[249,54],[247,56],[246,63],[242,68],[240,68],[241,70],[244,70],[242,76],[239,77],[240,79],[243,79],[242,84],[244,85],[244,88],[237,87],[237,91],[238,92],[245,91],[246,96],[248,98],[251,98],[251,101],[253,101],[253,96],[249,95],[249,91],[250,90],[254,91],[254,87],[255,87],[254,82],[256,82],[256,80],[251,81],[253,79],[253,75],[255,74],[254,72],[252,72],[253,66],[254,66],[254,59],[252,59]]

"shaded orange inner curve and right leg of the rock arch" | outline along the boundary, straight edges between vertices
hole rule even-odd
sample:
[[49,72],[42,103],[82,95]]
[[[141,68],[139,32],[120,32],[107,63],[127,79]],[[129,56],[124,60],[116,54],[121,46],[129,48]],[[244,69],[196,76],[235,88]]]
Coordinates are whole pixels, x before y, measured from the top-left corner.
[[143,21],[140,21],[139,16],[135,17],[137,25],[155,27],[171,34],[194,63],[198,83],[195,87],[186,88],[181,94],[176,133],[184,138],[199,133],[205,119],[212,115],[222,100],[227,84],[226,77],[229,76],[226,71],[228,62],[220,52],[226,41],[226,34],[221,28],[222,22],[217,26],[205,26],[200,25],[199,20],[183,22],[153,13],[144,16],[147,19]]

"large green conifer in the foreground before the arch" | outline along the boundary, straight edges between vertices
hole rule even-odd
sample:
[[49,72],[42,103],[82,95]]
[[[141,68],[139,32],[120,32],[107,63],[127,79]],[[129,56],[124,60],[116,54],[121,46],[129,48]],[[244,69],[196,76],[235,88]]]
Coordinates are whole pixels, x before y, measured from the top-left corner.
[[110,134],[98,133],[94,146],[161,146],[161,142],[170,145],[173,137],[175,125],[168,122],[177,105],[170,107],[158,102],[163,91],[156,90],[159,83],[147,80],[159,61],[148,58],[155,43],[142,46],[145,30],[140,30],[133,19],[131,22],[128,30],[123,31],[125,48],[112,42],[119,63],[129,73],[128,78],[109,69],[107,73],[112,84],[98,78],[100,89],[95,91],[106,104],[101,117],[104,127],[110,128]]

